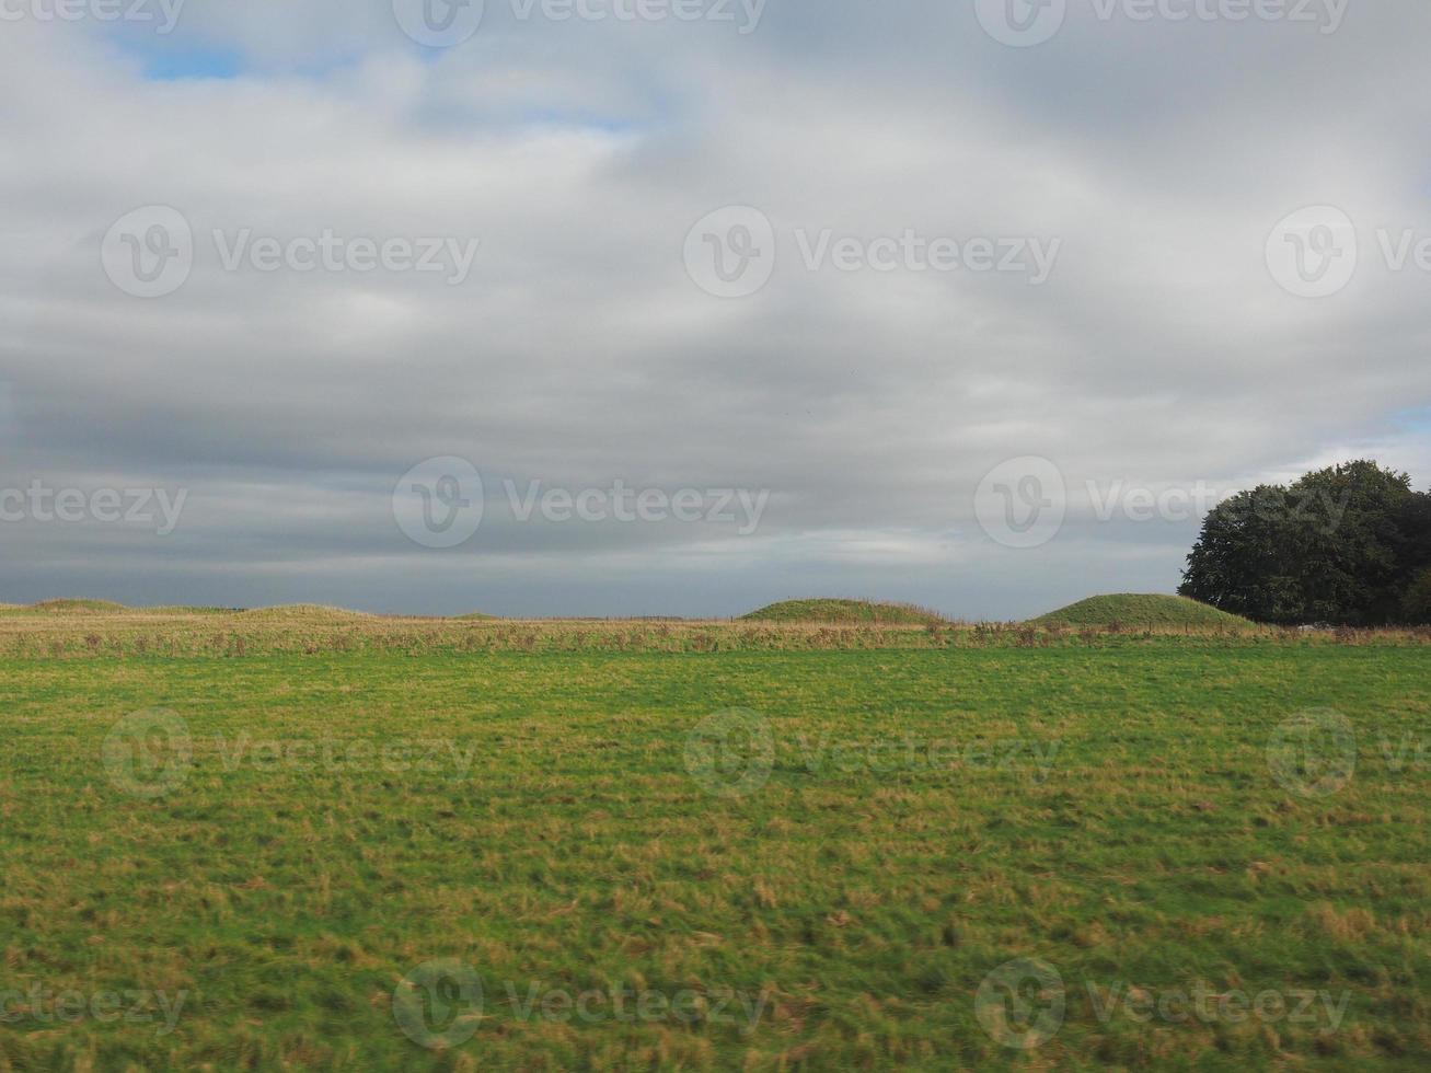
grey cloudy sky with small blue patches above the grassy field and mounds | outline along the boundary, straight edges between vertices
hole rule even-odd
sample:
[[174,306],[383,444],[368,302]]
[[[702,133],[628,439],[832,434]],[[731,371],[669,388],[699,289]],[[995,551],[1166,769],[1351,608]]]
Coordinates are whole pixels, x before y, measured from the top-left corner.
[[1431,486],[1422,0],[59,3],[0,602],[1012,618]]

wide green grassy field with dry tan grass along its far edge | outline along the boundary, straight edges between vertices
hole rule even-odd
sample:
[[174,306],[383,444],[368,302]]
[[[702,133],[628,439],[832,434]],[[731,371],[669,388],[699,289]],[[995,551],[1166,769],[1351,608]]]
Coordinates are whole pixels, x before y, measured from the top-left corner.
[[1425,1069],[1428,660],[0,612],[0,1070]]

